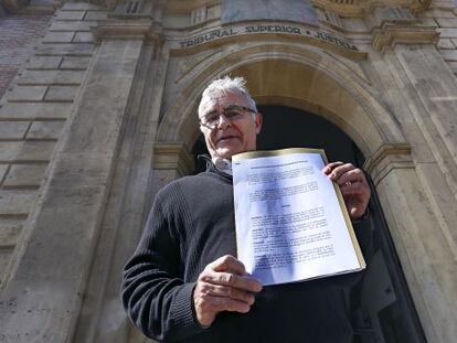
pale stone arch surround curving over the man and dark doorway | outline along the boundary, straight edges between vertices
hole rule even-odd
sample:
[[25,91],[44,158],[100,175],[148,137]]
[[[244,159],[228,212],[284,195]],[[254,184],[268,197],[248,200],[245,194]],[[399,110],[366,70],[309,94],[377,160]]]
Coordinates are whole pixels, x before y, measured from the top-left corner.
[[[440,271],[454,268],[453,254],[446,249],[436,259],[437,247],[446,246],[447,239],[434,229],[439,218],[417,162],[379,90],[352,61],[315,46],[279,41],[224,46],[210,54],[174,85],[178,96],[163,115],[155,143],[155,190],[190,172],[187,151],[200,133],[195,115],[200,95],[224,74],[244,74],[259,104],[286,105],[322,116],[357,143],[366,158],[364,167],[376,186],[426,336],[451,342],[455,326],[439,323],[457,317],[451,306],[453,280]],[[431,283],[431,276],[438,276],[438,281]]]

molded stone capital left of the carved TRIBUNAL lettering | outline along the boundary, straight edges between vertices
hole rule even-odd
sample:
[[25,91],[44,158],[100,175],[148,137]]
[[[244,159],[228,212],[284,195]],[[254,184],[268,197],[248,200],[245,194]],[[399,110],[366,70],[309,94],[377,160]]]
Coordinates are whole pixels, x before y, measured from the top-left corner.
[[151,19],[113,19],[100,22],[91,30],[96,42],[107,39],[146,40],[159,44],[162,42],[162,30]]

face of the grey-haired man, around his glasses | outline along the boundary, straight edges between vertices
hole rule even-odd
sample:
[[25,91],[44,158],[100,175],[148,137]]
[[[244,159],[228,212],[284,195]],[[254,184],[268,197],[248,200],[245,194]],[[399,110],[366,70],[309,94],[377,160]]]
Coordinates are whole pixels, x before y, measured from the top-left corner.
[[[203,108],[202,116],[210,112],[222,114],[225,108],[233,105],[251,107],[244,96],[236,93],[227,93],[219,97],[213,97]],[[220,157],[223,159],[231,159],[236,153],[255,150],[256,137],[261,132],[261,128],[262,115],[257,114],[255,119],[253,119],[252,112],[247,110],[237,120],[228,121],[222,116],[214,129],[200,126],[211,157]]]

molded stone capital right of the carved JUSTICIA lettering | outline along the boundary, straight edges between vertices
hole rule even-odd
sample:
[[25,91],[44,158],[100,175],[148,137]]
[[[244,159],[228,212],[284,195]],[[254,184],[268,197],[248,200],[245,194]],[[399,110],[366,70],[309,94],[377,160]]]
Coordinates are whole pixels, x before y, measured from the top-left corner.
[[372,31],[371,44],[375,51],[384,52],[395,44],[436,44],[439,32],[434,26],[398,25],[383,23]]

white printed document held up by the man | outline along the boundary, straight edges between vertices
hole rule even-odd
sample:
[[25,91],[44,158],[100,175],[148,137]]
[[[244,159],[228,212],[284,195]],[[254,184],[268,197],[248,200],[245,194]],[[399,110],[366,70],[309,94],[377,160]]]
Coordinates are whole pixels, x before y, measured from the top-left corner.
[[232,158],[237,257],[265,286],[365,268],[323,150],[252,151]]

